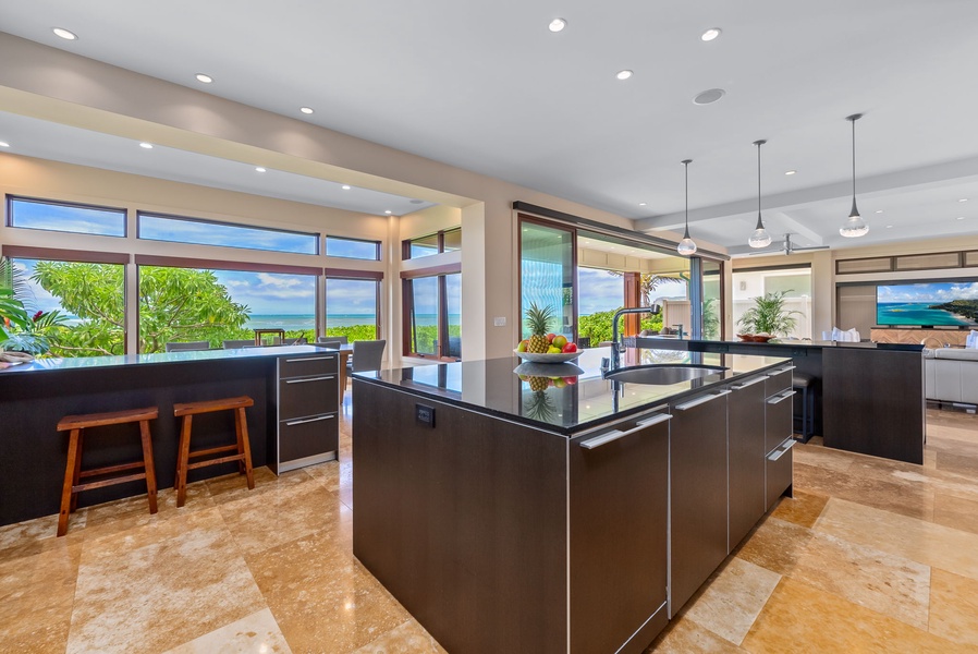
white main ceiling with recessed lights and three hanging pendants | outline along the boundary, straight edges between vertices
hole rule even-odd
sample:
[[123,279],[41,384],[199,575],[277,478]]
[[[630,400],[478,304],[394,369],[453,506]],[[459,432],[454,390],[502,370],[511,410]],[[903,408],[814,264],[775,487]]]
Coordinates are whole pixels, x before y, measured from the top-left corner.
[[[547,29],[554,16],[569,23],[560,34]],[[768,140],[765,220],[774,234],[797,234],[797,245],[978,233],[975,25],[975,0],[0,5],[10,34],[610,210],[646,230],[682,222],[679,161],[690,158],[690,231],[733,253],[746,250],[756,220],[758,138]],[[80,38],[59,39],[52,26]],[[701,41],[714,26],[721,37]],[[635,75],[615,80],[623,69]],[[198,72],[215,83],[199,84]],[[692,102],[714,87],[726,90],[719,102]],[[301,106],[316,112],[303,116]],[[847,240],[838,229],[851,203],[845,117],[854,112],[866,114],[856,125],[857,186],[870,233]],[[169,177],[154,166],[138,172]],[[301,193],[288,184],[272,183],[270,194]]]

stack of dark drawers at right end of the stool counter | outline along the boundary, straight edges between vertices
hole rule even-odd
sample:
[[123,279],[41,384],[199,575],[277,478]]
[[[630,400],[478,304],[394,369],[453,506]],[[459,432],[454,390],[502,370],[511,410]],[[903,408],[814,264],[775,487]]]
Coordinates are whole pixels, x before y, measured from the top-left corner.
[[268,467],[276,474],[337,458],[339,356],[280,356],[277,363],[277,428],[269,436]]

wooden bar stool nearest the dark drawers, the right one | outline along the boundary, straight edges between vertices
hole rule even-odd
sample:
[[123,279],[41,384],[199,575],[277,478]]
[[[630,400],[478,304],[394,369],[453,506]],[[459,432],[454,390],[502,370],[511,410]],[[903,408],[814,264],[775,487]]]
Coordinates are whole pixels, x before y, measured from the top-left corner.
[[[255,487],[255,477],[252,474],[252,446],[248,443],[248,423],[244,412],[245,408],[254,405],[255,400],[248,396],[173,404],[173,415],[183,417],[183,427],[180,429],[180,451],[176,455],[175,486],[178,507],[182,507],[186,502],[186,473],[188,470],[196,468],[237,461],[239,470],[248,477],[248,489]],[[194,416],[198,413],[211,413],[213,411],[234,411],[234,431],[237,433],[237,443],[191,451],[191,427]],[[191,463],[192,458],[219,455],[232,450],[236,453]]]

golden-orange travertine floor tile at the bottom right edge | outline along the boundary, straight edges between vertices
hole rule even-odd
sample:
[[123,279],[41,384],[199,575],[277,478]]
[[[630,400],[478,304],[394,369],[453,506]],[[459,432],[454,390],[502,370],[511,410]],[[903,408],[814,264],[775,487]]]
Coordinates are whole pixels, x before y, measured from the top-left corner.
[[783,579],[744,639],[751,654],[948,654],[965,647],[887,615]]

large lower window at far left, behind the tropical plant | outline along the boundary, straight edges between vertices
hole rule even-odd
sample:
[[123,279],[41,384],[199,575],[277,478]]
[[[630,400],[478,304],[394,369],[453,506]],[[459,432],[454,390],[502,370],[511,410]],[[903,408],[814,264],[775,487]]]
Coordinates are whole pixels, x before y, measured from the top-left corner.
[[19,256],[11,263],[16,296],[32,319],[27,329],[12,330],[9,349],[64,358],[125,353],[124,265]]

